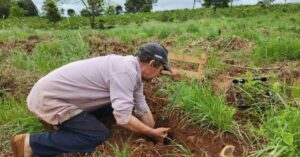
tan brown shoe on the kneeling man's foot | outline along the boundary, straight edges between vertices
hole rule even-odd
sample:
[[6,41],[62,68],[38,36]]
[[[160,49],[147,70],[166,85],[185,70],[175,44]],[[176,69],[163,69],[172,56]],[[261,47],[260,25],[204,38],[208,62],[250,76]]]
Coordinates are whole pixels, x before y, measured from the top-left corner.
[[28,134],[16,135],[11,139],[11,149],[14,157],[24,157],[25,139]]

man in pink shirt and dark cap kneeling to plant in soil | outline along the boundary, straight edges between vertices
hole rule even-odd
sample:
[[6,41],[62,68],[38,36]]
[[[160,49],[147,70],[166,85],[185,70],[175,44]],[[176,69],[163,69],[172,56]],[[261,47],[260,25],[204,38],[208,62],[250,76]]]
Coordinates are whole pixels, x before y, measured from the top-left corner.
[[[12,138],[15,157],[92,152],[110,137],[97,119],[112,112],[118,125],[152,137],[169,128],[153,128],[142,80],[170,71],[168,51],[157,43],[143,45],[137,56],[108,55],[64,65],[41,78],[27,97],[27,107],[55,132]],[[135,114],[132,114],[134,111]]]

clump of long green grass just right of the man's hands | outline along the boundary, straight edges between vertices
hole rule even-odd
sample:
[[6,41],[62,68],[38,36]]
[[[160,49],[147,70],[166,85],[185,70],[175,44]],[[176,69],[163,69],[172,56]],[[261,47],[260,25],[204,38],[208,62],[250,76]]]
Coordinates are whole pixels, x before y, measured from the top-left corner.
[[213,95],[208,84],[200,86],[196,81],[180,82],[168,88],[173,93],[168,107],[184,111],[191,124],[236,133],[235,109],[225,104],[223,96]]

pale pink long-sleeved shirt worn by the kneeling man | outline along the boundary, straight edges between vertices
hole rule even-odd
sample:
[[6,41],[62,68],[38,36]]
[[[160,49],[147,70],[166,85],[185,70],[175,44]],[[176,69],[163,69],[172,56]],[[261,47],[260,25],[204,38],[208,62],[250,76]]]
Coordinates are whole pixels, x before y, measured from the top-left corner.
[[82,111],[112,104],[117,124],[149,111],[139,62],[134,56],[108,55],[64,65],[41,78],[27,97],[28,109],[57,125]]

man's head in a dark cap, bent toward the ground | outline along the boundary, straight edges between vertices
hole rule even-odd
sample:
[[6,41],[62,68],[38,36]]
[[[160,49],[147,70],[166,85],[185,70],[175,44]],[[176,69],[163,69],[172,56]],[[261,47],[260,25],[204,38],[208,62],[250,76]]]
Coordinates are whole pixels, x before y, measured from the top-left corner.
[[171,71],[168,64],[168,50],[158,43],[142,45],[137,53],[143,80],[157,77],[162,70]]

